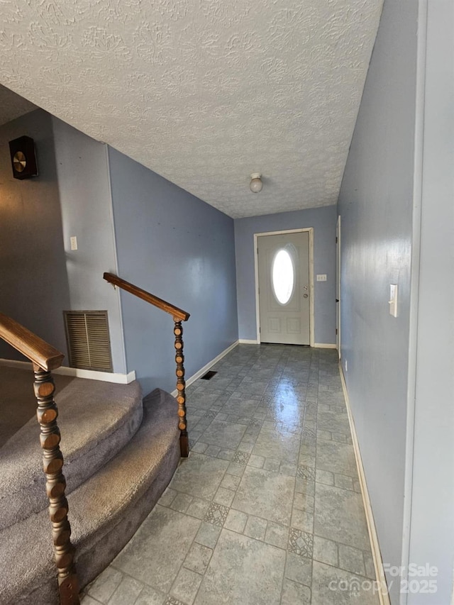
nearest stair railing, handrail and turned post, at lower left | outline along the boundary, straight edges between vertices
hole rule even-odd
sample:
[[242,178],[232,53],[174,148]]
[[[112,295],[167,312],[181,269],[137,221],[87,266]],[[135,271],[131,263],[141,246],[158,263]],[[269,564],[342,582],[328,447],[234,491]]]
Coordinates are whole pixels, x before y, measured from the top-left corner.
[[66,480],[62,473],[63,455],[60,451],[60,429],[57,426],[58,410],[53,398],[55,384],[51,374],[51,370],[62,365],[65,355],[3,313],[0,313],[0,338],[25,355],[33,364],[33,387],[38,401],[36,414],[40,424],[45,489],[49,499],[60,604],[79,605],[79,582],[74,565],[74,546],[70,540],[71,526],[67,518]]

